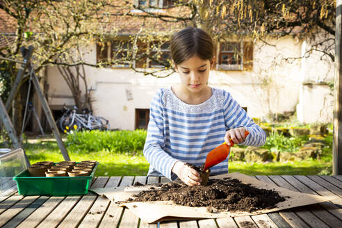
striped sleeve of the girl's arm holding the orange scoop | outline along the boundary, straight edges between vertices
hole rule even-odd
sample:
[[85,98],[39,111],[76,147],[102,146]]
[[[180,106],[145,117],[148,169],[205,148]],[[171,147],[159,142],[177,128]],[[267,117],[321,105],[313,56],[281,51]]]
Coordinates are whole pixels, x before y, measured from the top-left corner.
[[229,92],[224,92],[223,115],[225,116],[226,131],[237,127],[245,127],[250,134],[240,145],[262,146],[266,142],[266,133],[254,123],[245,110],[231,97]]

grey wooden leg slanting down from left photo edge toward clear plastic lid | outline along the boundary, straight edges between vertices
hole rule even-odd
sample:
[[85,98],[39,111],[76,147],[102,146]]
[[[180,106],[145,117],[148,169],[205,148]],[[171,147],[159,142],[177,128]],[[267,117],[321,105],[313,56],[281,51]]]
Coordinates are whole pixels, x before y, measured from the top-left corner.
[[[22,145],[20,144],[20,142],[17,138],[17,133],[15,133],[15,129],[13,127],[12,122],[10,121],[10,117],[8,116],[6,108],[3,105],[3,101],[1,99],[1,97],[0,97],[0,120],[2,120],[3,125],[5,126],[5,129],[8,133],[8,136],[10,136],[10,140],[12,141],[15,149],[21,148]],[[25,156],[25,160],[26,160],[26,165],[29,167],[30,162],[29,162],[29,158],[27,158],[27,156],[26,156],[25,151],[24,151],[24,156]]]

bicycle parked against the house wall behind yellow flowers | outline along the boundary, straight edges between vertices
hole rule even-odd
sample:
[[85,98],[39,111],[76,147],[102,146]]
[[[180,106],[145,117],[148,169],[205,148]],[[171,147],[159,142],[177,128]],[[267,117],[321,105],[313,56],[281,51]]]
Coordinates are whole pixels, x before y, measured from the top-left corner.
[[59,127],[62,131],[67,133],[72,129],[75,131],[80,131],[83,129],[87,130],[109,130],[109,121],[104,117],[97,117],[92,115],[92,111],[88,108],[83,109],[83,113],[76,113],[78,108],[74,106],[72,110],[63,106],[63,116],[60,117]]

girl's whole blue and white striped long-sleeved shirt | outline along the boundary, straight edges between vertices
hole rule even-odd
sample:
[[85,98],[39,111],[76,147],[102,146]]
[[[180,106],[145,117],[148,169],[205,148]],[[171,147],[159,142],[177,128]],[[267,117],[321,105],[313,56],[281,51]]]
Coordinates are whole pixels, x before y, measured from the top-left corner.
[[[247,116],[229,92],[212,89],[202,104],[181,101],[171,88],[159,89],[151,101],[144,155],[149,176],[177,179],[171,170],[184,161],[203,165],[206,154],[224,142],[226,131],[245,127],[250,134],[241,145],[261,146],[266,133]],[[211,175],[228,172],[228,158],[211,168]]]

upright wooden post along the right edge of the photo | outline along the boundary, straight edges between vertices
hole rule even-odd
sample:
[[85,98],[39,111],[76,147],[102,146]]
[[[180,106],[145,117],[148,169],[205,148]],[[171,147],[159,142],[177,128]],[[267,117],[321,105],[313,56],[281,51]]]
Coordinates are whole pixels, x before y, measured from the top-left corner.
[[332,173],[342,174],[342,0],[336,1],[335,80],[334,80],[334,140]]

